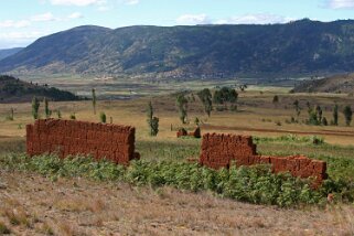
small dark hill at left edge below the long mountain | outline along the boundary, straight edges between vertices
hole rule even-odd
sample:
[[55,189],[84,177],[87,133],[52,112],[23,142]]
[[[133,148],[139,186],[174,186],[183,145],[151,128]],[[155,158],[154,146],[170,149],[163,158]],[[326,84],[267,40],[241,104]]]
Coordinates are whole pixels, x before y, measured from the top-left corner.
[[0,103],[31,101],[33,96],[51,100],[79,100],[81,97],[65,90],[46,85],[37,85],[20,81],[19,78],[0,75]]

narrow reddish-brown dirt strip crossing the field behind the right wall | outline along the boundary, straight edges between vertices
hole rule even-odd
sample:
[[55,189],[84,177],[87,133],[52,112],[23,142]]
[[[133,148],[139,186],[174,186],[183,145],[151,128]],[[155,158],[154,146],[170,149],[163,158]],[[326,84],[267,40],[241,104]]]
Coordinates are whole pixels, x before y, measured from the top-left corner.
[[236,130],[236,131],[255,131],[255,132],[275,132],[275,133],[294,133],[294,135],[322,135],[322,136],[343,136],[353,137],[354,131],[332,131],[322,129],[319,131],[299,131],[299,130],[283,130],[283,129],[260,129],[260,128],[249,128],[249,127],[237,127],[237,126],[213,126],[213,125],[202,125],[204,130]]

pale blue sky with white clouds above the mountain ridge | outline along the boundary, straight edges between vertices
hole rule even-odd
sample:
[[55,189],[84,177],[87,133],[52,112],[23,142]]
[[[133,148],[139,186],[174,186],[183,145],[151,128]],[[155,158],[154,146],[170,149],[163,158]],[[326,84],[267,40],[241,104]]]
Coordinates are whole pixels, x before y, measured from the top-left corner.
[[354,0],[2,0],[0,49],[78,25],[269,24],[354,18]]

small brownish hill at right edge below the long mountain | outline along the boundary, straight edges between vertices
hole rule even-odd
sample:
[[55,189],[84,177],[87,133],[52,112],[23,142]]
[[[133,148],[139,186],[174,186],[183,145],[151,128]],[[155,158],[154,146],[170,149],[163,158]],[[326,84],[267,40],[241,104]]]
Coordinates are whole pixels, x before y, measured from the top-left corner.
[[321,79],[304,81],[297,85],[293,93],[354,93],[354,74],[334,75]]

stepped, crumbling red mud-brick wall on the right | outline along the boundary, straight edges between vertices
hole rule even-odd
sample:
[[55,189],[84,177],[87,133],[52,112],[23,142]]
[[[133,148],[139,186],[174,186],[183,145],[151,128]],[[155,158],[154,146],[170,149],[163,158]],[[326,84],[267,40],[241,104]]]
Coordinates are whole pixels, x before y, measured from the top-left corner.
[[326,162],[303,155],[258,155],[256,149],[248,136],[206,133],[203,136],[200,163],[213,169],[229,168],[234,162],[237,165],[271,164],[273,173],[290,172],[293,176],[314,178],[314,187],[328,178]]

